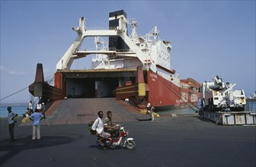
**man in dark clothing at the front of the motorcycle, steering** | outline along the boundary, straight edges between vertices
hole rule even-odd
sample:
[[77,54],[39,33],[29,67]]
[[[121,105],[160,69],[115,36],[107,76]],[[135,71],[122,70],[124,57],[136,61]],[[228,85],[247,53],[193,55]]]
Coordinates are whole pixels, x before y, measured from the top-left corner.
[[107,131],[112,136],[118,136],[120,130],[120,124],[115,124],[112,121],[112,112],[107,112],[107,117],[104,118],[104,131]]

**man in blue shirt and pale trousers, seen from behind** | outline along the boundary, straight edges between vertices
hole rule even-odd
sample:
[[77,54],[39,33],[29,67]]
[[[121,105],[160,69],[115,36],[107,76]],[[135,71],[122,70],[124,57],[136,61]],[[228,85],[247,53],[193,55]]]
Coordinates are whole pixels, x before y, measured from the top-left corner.
[[30,115],[30,120],[33,121],[33,136],[32,139],[36,140],[36,134],[37,134],[37,140],[40,140],[40,121],[43,119],[43,115],[38,112],[37,109],[35,109],[34,114]]

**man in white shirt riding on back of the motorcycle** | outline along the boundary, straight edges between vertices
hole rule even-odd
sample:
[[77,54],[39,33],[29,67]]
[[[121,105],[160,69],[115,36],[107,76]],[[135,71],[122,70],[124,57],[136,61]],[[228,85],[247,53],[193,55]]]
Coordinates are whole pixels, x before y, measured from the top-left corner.
[[98,118],[94,121],[94,124],[92,124],[91,129],[96,131],[97,134],[101,137],[98,142],[101,143],[101,146],[104,146],[104,140],[108,139],[111,135],[104,131],[104,124],[102,121],[103,118],[103,112],[98,112]]

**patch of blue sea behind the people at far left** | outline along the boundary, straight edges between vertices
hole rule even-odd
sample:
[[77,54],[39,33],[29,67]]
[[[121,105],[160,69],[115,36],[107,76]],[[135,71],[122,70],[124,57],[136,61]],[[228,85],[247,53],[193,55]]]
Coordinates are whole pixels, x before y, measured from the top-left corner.
[[[11,111],[19,116],[23,116],[28,108],[28,103],[1,103],[0,104],[0,118],[7,117],[8,111],[7,107],[11,106]],[[33,106],[34,109],[34,106]]]

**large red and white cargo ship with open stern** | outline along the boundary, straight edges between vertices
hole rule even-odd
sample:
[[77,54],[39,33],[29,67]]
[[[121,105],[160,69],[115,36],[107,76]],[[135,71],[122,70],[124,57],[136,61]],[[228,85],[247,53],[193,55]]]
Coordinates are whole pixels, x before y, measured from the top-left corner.
[[[128,33],[130,27],[131,33]],[[159,30],[139,36],[138,22],[128,19],[123,10],[109,13],[109,26],[90,29],[81,17],[75,42],[56,65],[54,86],[43,79],[43,65],[37,64],[37,74],[29,91],[41,102],[67,98],[115,97],[130,99],[136,108],[181,108],[196,105],[200,98],[200,83],[192,78],[181,80],[171,68],[171,42],[159,39]],[[94,37],[94,49],[82,45]],[[91,69],[72,70],[72,62],[94,55]]]

